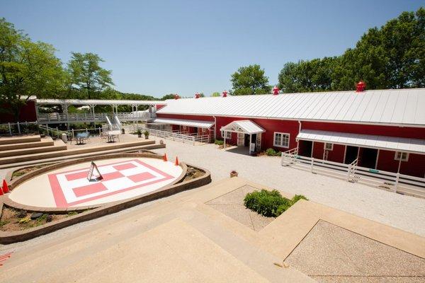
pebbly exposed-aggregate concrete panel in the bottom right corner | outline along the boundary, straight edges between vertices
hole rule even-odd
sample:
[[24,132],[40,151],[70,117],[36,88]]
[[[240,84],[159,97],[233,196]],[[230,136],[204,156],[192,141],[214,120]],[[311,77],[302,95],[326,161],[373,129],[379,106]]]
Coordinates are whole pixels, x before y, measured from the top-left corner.
[[318,221],[285,262],[319,282],[334,282],[329,277],[336,282],[370,282],[368,277],[425,280],[424,258],[326,221]]

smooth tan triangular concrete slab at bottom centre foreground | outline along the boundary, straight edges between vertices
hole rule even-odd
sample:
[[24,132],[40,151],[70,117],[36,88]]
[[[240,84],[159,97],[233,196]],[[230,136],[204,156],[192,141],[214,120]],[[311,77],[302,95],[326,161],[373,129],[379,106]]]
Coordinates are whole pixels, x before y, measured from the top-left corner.
[[44,282],[268,282],[181,220],[82,260]]

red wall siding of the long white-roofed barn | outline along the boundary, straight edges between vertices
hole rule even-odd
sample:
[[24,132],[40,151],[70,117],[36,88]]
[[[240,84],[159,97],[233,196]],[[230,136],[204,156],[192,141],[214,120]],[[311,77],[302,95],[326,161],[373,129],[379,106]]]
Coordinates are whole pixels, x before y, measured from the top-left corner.
[[[212,116],[198,115],[170,115],[158,114],[158,117],[167,117],[174,119],[214,121]],[[215,132],[217,139],[222,139],[220,128],[235,120],[246,120],[241,117],[216,117],[217,128]],[[295,138],[298,134],[299,123],[293,120],[271,120],[271,119],[249,119],[266,130],[262,134],[261,149],[274,148],[279,151],[287,151],[297,147]],[[356,134],[376,134],[390,137],[406,137],[413,139],[425,139],[425,129],[412,127],[390,127],[382,125],[355,125],[331,122],[302,122],[302,129],[317,129],[331,132],[350,132]],[[290,134],[290,146],[288,149],[273,146],[274,132],[283,132]],[[229,144],[237,144],[237,134],[232,134],[232,139],[227,140]],[[323,158],[323,143],[314,142],[314,158]],[[345,154],[345,145],[334,144],[333,150],[329,151],[327,160],[343,163]],[[395,151],[380,150],[378,156],[378,170],[397,172],[398,161],[394,160]],[[424,178],[425,174],[425,155],[409,154],[409,161],[402,162],[400,173],[414,175]]]

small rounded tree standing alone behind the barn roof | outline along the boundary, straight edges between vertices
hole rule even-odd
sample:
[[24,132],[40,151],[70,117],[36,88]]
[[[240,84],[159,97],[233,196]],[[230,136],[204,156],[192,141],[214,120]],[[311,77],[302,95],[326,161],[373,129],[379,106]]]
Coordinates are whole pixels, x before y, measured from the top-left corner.
[[240,67],[232,74],[234,96],[246,96],[250,94],[270,93],[271,86],[268,85],[268,77],[260,65],[254,64],[248,67]]

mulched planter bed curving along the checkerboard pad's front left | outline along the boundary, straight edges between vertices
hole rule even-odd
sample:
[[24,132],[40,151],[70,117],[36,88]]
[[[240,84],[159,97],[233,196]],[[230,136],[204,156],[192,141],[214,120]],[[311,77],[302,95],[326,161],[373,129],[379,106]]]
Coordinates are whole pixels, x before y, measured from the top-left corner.
[[4,205],[0,218],[0,231],[23,231],[79,213],[81,212],[68,212],[67,214],[44,213],[37,219],[31,219],[33,212],[26,212],[25,210],[14,209]]

